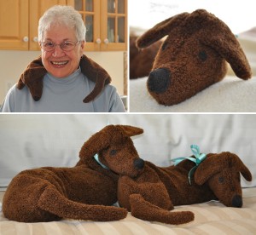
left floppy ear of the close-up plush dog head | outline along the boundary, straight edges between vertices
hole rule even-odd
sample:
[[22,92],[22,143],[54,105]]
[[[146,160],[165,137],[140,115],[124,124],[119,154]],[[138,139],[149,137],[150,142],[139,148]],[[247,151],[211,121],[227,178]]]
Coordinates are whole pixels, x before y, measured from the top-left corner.
[[136,46],[139,49],[147,48],[152,43],[160,40],[170,33],[172,28],[178,26],[189,13],[177,14],[169,19],[163,20],[153,28],[145,32],[141,37],[137,38]]

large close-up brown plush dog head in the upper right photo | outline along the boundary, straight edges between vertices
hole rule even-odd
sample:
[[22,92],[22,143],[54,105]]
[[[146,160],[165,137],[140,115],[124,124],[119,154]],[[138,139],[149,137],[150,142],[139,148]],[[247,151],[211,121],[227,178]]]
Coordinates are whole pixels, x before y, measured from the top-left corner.
[[160,22],[137,39],[137,47],[146,48],[165,36],[147,81],[148,92],[162,105],[178,104],[222,80],[226,61],[237,77],[252,76],[230,28],[204,9]]

